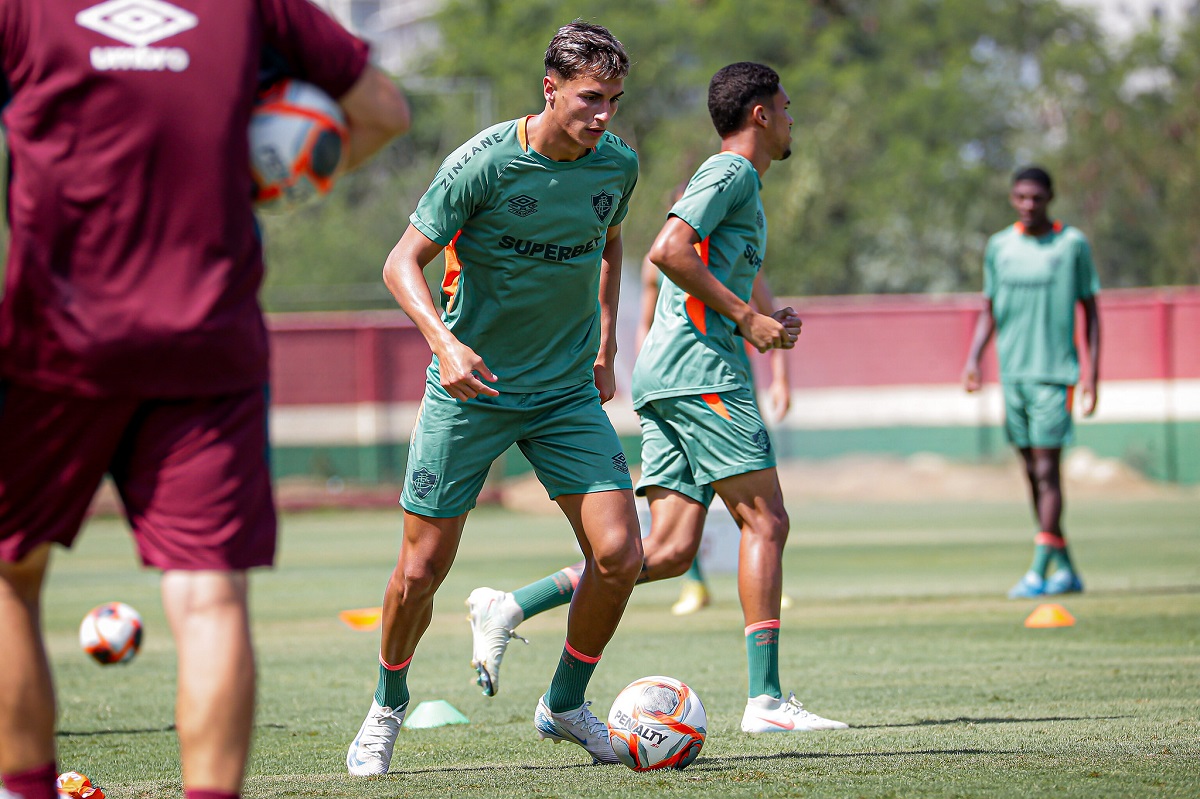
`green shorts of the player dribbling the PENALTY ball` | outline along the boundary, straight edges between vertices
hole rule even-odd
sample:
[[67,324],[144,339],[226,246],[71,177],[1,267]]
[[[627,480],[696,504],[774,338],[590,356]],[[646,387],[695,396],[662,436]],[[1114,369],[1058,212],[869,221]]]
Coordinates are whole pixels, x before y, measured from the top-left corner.
[[492,462],[516,444],[551,499],[630,489],[629,463],[595,384],[458,402],[426,380],[400,504],[452,518],[475,506]]

